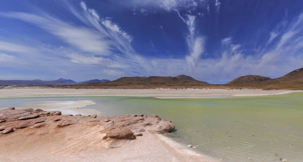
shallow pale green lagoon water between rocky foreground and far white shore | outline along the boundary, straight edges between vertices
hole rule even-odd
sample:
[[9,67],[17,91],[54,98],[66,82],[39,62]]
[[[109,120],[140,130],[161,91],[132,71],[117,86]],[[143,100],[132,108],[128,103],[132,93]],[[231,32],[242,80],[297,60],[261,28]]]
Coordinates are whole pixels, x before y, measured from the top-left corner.
[[169,136],[184,145],[199,145],[198,151],[225,161],[303,159],[303,93],[203,99],[31,97],[0,103],[46,99],[90,99],[97,104],[86,108],[97,109],[102,116],[157,114],[176,125],[177,131]]

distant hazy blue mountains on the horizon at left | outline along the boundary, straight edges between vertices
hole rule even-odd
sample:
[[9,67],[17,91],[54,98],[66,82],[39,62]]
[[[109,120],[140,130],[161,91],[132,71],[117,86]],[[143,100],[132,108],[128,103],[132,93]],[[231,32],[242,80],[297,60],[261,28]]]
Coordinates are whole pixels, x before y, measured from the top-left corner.
[[83,82],[75,82],[70,79],[60,78],[58,80],[43,81],[43,80],[0,80],[0,85],[39,85],[39,86],[50,86],[50,85],[78,85],[87,83],[100,83],[109,82],[107,79],[94,79]]

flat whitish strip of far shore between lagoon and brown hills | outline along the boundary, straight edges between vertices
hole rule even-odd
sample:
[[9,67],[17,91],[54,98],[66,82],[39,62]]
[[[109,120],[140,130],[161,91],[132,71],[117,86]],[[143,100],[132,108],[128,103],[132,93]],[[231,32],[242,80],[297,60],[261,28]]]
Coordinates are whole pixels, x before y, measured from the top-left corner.
[[159,98],[203,98],[258,96],[298,92],[298,90],[226,89],[0,89],[0,97],[29,96],[150,96]]

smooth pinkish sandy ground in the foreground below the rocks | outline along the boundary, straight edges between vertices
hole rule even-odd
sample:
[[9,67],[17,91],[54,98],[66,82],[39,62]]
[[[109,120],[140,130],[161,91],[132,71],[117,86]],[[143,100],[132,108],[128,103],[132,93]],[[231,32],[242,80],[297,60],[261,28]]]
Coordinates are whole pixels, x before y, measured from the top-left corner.
[[1,136],[0,161],[218,161],[148,131],[127,145],[108,148],[101,129],[76,124],[18,130]]

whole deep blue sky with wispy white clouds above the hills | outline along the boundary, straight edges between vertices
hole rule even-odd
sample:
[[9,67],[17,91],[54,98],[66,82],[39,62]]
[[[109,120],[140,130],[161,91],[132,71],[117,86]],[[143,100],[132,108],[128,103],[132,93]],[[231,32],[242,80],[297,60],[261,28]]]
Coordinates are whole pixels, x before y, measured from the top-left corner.
[[303,67],[303,1],[0,2],[0,79],[185,74],[226,83]]

